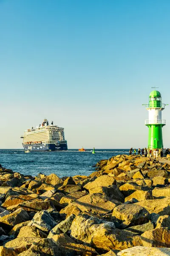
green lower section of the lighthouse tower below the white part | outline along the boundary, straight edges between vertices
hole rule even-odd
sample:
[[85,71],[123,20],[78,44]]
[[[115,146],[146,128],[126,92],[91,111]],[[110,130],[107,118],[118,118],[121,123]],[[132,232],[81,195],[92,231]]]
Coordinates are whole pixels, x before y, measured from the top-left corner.
[[162,127],[164,124],[147,125],[149,128],[148,148],[163,148]]

